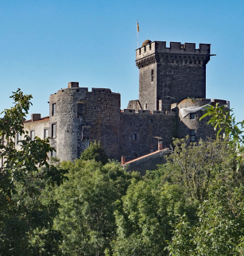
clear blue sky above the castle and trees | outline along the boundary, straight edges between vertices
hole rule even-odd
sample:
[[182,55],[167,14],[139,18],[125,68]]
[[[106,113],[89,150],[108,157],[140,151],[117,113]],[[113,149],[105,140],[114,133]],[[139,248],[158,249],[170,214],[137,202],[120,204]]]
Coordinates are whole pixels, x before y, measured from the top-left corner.
[[142,41],[211,44],[207,98],[230,100],[244,119],[244,1],[0,0],[0,111],[20,87],[30,113],[48,115],[48,97],[68,82],[138,99],[136,21]]

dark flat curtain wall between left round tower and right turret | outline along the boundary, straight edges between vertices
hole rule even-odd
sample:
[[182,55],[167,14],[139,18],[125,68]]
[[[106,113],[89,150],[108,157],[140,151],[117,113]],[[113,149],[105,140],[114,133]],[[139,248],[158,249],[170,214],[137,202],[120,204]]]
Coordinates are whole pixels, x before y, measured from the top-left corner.
[[157,138],[165,146],[176,136],[176,112],[124,110],[120,118],[120,156],[126,161],[157,150]]

